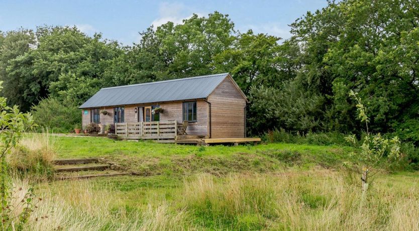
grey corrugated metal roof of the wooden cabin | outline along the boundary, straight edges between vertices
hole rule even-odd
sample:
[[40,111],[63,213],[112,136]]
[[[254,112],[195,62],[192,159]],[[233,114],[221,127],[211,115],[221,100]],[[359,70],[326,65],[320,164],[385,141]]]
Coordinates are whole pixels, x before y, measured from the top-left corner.
[[228,73],[100,89],[79,108],[206,98]]

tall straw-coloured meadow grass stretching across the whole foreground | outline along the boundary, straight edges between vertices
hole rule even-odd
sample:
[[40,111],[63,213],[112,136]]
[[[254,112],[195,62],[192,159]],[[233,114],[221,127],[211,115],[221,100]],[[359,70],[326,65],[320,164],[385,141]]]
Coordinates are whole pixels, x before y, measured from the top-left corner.
[[[45,205],[38,207],[51,206],[50,200],[58,200],[60,204],[56,206],[60,211],[49,213],[39,227],[60,225],[63,230],[419,228],[417,175],[380,175],[365,197],[359,182],[355,182],[348,180],[343,172],[324,168],[291,168],[274,174],[233,173],[225,177],[200,173],[183,179],[153,176],[53,182],[39,185],[37,191],[49,197],[46,196]],[[44,208],[42,211],[45,212]],[[42,215],[39,211],[35,213],[38,214],[35,216]],[[59,221],[51,221],[55,219]]]

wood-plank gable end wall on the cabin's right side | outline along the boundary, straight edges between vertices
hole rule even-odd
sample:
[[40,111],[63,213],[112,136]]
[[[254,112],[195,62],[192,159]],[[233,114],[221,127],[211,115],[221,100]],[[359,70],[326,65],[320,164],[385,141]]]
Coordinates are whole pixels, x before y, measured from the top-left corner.
[[246,99],[227,77],[208,96],[211,102],[211,138],[244,138]]

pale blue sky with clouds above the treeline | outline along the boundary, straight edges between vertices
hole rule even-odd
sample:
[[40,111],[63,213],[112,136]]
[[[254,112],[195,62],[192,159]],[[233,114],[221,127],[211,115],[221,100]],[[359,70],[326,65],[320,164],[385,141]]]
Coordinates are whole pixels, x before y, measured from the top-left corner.
[[40,25],[76,25],[92,35],[126,45],[141,38],[138,32],[167,21],[182,22],[193,13],[205,16],[219,11],[228,14],[236,29],[288,38],[289,27],[307,11],[327,6],[326,0],[294,1],[4,1],[0,0],[0,30],[19,27],[35,29]]

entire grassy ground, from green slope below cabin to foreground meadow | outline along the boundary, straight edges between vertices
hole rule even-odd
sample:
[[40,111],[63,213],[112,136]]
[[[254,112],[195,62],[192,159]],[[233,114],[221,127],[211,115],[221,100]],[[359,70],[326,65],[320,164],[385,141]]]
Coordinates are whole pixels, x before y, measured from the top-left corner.
[[38,184],[44,218],[32,230],[419,228],[418,173],[379,175],[362,196],[359,176],[339,167],[350,147],[58,142],[58,158],[103,156],[139,175]]

